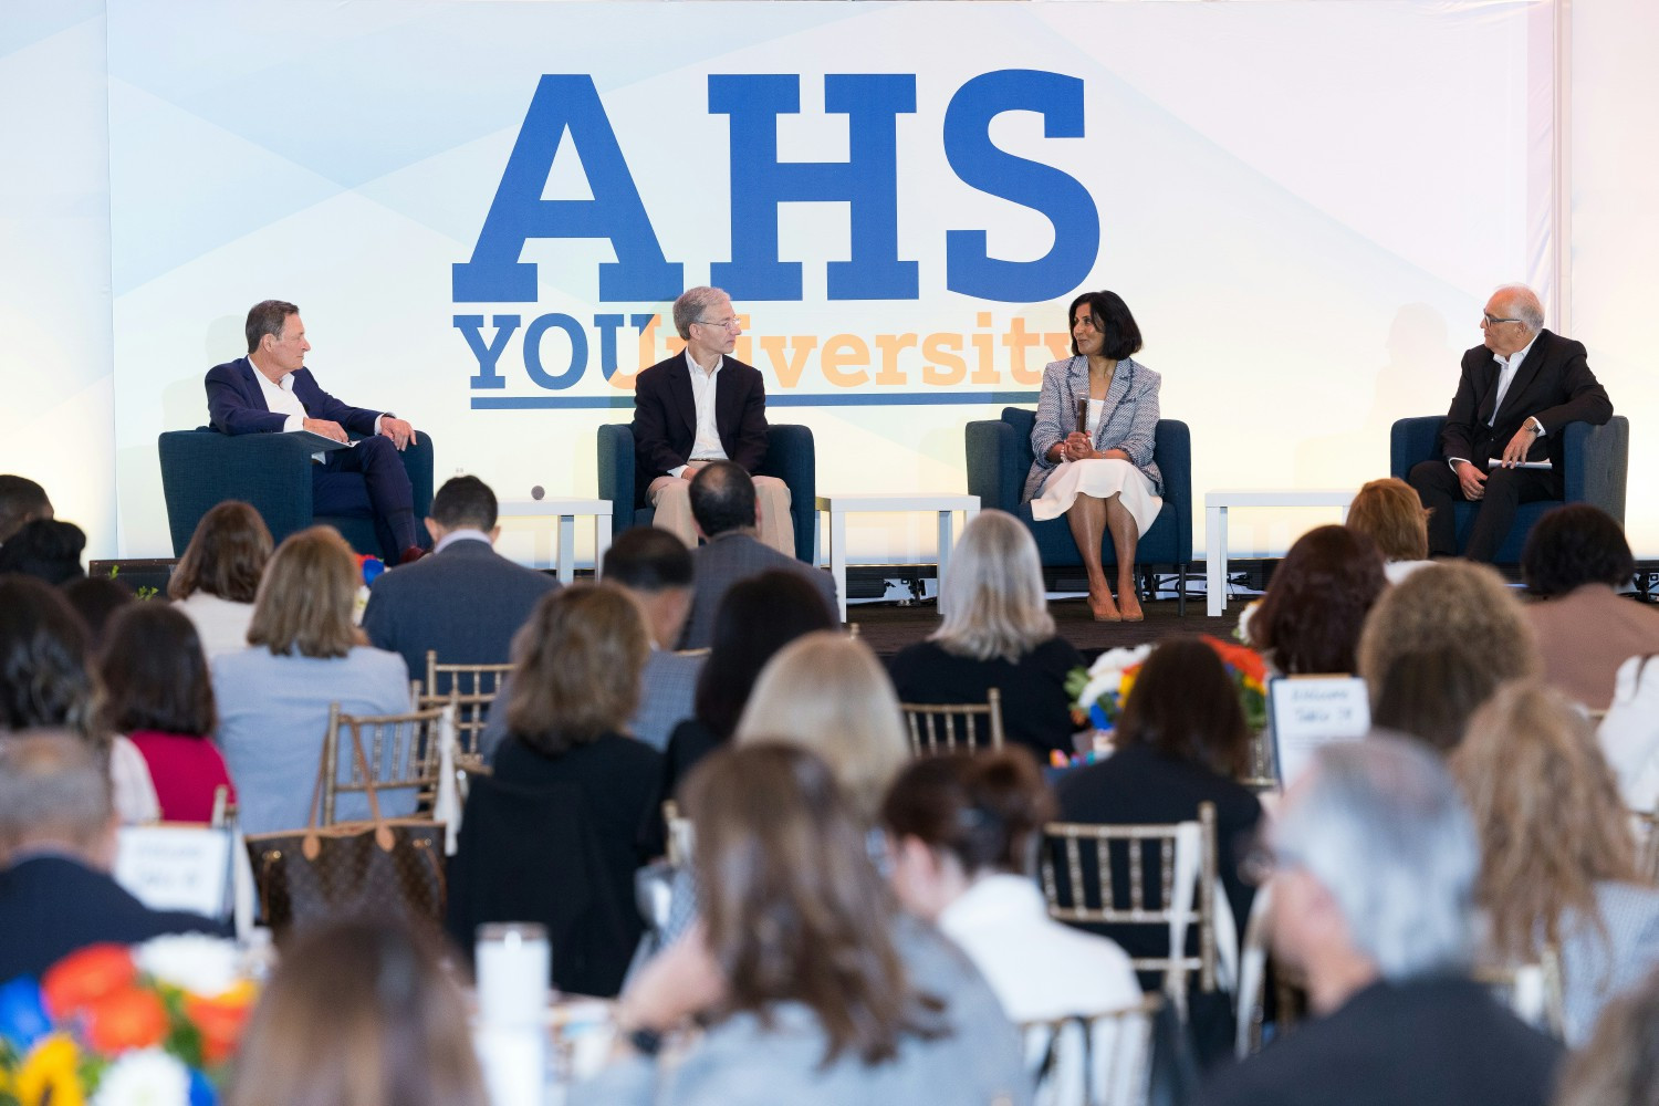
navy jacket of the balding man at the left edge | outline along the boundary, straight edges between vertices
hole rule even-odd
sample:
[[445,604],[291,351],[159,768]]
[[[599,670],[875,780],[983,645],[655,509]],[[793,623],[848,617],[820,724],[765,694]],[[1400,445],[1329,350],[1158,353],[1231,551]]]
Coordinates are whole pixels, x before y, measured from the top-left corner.
[[197,914],[151,910],[114,879],[61,854],[32,856],[0,871],[0,983],[40,977],[78,948],[136,945],[163,934],[229,930]]

